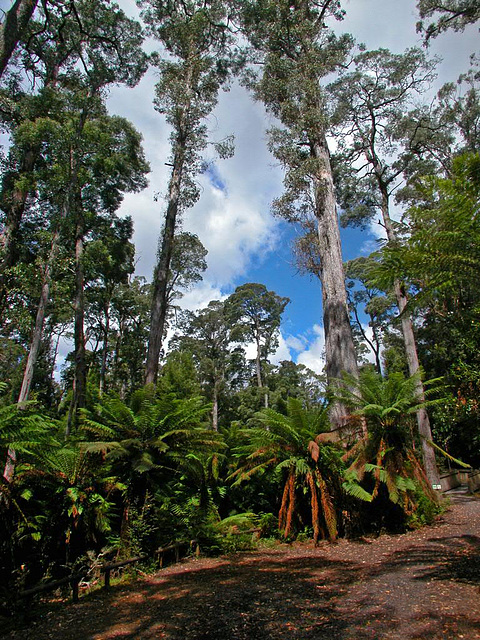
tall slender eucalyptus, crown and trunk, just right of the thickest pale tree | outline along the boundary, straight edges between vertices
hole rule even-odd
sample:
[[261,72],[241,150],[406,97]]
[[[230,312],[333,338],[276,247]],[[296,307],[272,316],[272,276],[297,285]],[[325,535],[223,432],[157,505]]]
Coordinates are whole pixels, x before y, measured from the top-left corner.
[[[353,171],[357,173],[358,182],[363,182],[365,187],[370,186],[366,202],[354,197],[351,219],[364,224],[366,219],[380,211],[388,243],[397,244],[398,233],[391,215],[390,200],[399,178],[408,170],[412,154],[399,153],[395,158],[395,151],[401,151],[396,142],[396,127],[414,95],[431,82],[435,61],[428,61],[418,49],[410,49],[402,55],[380,49],[361,53],[355,58],[355,65],[354,71],[342,74],[330,86],[338,100],[336,117],[340,123],[343,162],[349,167],[361,162],[360,168]],[[411,145],[414,144],[412,140]],[[424,392],[419,376],[420,362],[413,322],[407,310],[406,290],[401,280],[395,280],[393,286],[409,374],[415,376],[421,402]],[[430,421],[422,405],[418,408],[417,423],[428,478],[432,484],[438,484],[435,452],[429,444],[432,440]]]

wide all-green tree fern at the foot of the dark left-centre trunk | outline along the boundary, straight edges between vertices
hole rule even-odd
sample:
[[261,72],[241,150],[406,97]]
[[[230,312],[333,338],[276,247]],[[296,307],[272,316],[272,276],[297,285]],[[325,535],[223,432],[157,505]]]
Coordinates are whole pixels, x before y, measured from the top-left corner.
[[90,450],[106,452],[130,500],[141,500],[147,490],[155,493],[182,474],[194,484],[201,477],[202,492],[205,474],[198,466],[223,446],[221,436],[205,428],[209,408],[203,398],[157,398],[147,387],[134,394],[131,406],[118,398],[102,398],[92,412],[84,413],[83,428],[98,439]]

